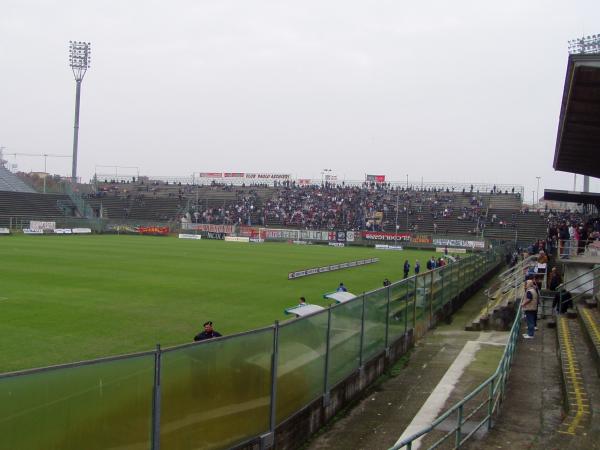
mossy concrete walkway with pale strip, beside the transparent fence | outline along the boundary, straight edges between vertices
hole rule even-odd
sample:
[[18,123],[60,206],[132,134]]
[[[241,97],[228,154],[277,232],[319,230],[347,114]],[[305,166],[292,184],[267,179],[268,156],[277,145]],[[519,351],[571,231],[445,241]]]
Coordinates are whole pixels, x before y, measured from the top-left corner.
[[[462,397],[493,373],[503,350],[497,344],[505,342],[508,333],[464,331],[487,301],[485,288],[467,301],[451,324],[431,330],[417,343],[404,367],[396,368],[388,380],[368,392],[307,448],[387,449],[416,417],[420,422],[414,423],[415,429],[439,415],[455,396]],[[467,344],[469,341],[478,343]],[[458,370],[451,371],[436,391],[465,345],[470,351],[459,359],[463,367],[455,366]]]

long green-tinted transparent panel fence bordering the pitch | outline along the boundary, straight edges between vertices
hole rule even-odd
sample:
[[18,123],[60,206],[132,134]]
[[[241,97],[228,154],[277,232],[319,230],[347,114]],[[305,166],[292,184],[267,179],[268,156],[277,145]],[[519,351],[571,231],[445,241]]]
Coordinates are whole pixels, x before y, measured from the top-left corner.
[[[0,449],[228,448],[272,439],[497,267],[499,252],[223,338],[0,374]],[[446,309],[450,312],[450,308]],[[512,355],[512,353],[511,353]]]

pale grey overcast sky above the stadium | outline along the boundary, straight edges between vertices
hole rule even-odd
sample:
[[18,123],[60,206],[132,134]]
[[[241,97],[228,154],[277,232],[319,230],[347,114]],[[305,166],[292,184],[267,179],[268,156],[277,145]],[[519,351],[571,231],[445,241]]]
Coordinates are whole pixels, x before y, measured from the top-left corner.
[[[552,169],[567,40],[599,32],[598,18],[597,0],[2,0],[0,145],[71,154],[68,43],[85,40],[86,180],[98,165],[330,168],[518,183],[529,199],[536,176],[542,189],[573,186]],[[41,157],[7,159],[43,170]],[[70,164],[48,158],[48,171]]]

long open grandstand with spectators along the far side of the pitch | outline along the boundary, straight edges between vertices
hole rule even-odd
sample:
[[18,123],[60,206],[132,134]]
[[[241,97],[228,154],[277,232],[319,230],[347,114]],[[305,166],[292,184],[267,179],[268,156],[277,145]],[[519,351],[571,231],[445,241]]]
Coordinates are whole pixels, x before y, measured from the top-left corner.
[[[406,189],[369,183],[298,186],[293,182],[285,186],[206,186],[141,178],[136,182],[78,185],[75,195],[80,200],[65,194],[36,194],[31,188],[27,196],[0,190],[0,223],[25,223],[36,218],[60,222],[88,215],[109,222],[174,224],[183,219],[193,223],[274,228],[397,230],[523,245],[545,238],[546,218],[528,211],[520,192],[470,189]],[[81,201],[89,211],[81,206]]]

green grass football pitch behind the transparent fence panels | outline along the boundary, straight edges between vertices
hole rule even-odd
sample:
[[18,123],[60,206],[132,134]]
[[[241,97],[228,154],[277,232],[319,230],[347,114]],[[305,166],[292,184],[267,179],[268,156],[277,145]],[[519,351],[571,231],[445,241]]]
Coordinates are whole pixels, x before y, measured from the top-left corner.
[[[405,259],[431,250],[379,251],[152,236],[0,239],[0,373],[190,342],[212,320],[232,334],[287,320],[284,309],[402,278]],[[288,280],[288,272],[356,259],[375,264]]]

